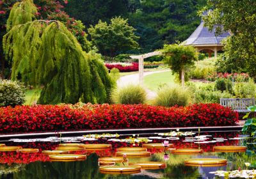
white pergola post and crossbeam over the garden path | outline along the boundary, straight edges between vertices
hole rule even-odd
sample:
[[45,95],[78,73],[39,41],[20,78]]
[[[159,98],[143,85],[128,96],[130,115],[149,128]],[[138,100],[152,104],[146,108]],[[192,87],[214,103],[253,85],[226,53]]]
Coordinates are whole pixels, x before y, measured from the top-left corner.
[[139,59],[139,82],[140,85],[143,86],[143,71],[144,71],[144,65],[143,61],[145,58],[149,58],[150,56],[158,56],[161,55],[162,52],[156,51],[156,52],[150,52],[148,54],[142,54],[138,56],[130,56],[132,59]]

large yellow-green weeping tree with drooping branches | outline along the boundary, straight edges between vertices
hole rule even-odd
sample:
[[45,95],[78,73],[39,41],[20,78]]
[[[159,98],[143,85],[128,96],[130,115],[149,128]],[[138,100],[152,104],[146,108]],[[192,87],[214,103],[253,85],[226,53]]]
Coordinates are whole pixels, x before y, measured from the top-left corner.
[[35,13],[28,6],[35,5],[26,0],[13,6],[8,21],[15,26],[3,38],[4,53],[12,61],[12,80],[43,86],[39,104],[108,102],[113,81],[99,54],[84,52],[60,21],[31,21],[29,15],[26,20],[15,19],[22,17],[22,7]]

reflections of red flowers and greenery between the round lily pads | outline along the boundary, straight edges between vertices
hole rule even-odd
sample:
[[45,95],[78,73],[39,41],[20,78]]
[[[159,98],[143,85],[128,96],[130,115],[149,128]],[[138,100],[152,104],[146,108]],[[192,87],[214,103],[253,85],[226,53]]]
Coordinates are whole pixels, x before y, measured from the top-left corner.
[[[231,134],[228,134],[231,135]],[[231,135],[236,137],[237,134]],[[225,135],[215,135],[216,137],[224,137]],[[226,136],[225,136],[226,137]],[[107,143],[107,141],[98,141],[99,143]],[[154,143],[161,143],[158,139],[154,139]],[[238,153],[223,153],[223,152],[212,152],[212,147],[216,143],[211,144],[191,144],[184,143],[182,139],[179,141],[172,141],[175,148],[202,148],[204,153],[197,155],[175,155],[170,151],[164,152],[161,149],[148,150],[152,153],[150,157],[143,158],[131,158],[129,162],[146,162],[146,161],[159,161],[165,162],[166,169],[156,170],[142,170],[141,173],[134,175],[109,175],[102,174],[99,172],[98,159],[100,157],[107,157],[115,155],[115,149],[117,147],[131,146],[127,143],[111,143],[113,145],[113,151],[100,151],[86,153],[87,159],[84,161],[77,162],[50,162],[45,155],[40,153],[0,153],[0,178],[36,178],[36,179],[47,179],[47,178],[214,178],[211,171],[216,170],[227,170],[231,171],[234,169],[245,169],[244,162],[250,162],[253,164],[255,161],[255,149],[256,144],[248,145],[246,152]],[[239,140],[227,140],[221,144],[246,144],[246,141]],[[12,144],[12,143],[10,143]],[[9,145],[10,145],[9,144]],[[43,150],[52,150],[58,144],[54,143],[23,143],[23,147],[43,148]],[[167,154],[167,155],[165,155]],[[227,159],[227,166],[221,167],[190,167],[184,165],[184,160],[191,158],[220,158]],[[118,164],[121,165],[121,164]],[[127,165],[127,164],[126,164]]]

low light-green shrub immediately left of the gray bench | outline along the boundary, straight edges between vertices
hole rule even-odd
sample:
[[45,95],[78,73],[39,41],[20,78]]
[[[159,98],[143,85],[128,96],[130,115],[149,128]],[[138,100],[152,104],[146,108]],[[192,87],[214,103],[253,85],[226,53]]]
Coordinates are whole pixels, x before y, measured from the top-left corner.
[[232,98],[227,92],[197,89],[194,93],[195,103],[220,103],[220,98]]

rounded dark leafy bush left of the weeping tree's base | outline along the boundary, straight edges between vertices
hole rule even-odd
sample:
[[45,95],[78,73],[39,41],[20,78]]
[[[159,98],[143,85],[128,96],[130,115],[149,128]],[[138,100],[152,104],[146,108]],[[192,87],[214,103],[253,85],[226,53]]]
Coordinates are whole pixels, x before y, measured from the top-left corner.
[[24,102],[24,84],[17,81],[0,80],[0,106],[15,106]]

